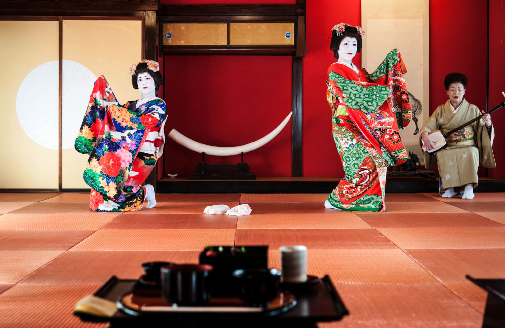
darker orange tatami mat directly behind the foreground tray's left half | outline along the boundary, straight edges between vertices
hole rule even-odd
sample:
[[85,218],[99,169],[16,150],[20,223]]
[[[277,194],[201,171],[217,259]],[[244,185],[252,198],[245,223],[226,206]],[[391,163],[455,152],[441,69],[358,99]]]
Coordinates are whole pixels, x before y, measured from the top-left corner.
[[115,251],[66,252],[40,268],[21,283],[27,284],[103,284],[115,275],[137,279],[141,264],[150,261],[198,263],[200,251]]

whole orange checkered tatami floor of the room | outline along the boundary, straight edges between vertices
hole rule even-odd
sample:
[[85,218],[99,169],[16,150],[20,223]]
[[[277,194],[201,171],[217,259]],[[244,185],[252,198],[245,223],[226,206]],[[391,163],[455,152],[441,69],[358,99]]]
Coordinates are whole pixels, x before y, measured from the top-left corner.
[[[89,210],[88,194],[0,194],[0,327],[102,327],[72,315],[106,280],[141,263],[197,263],[205,245],[308,247],[308,274],[330,275],[350,315],[321,327],[480,327],[505,278],[505,193],[473,200],[386,195],[383,213],[325,209],[327,194],[157,194],[153,209]],[[248,203],[250,216],[207,215]]]

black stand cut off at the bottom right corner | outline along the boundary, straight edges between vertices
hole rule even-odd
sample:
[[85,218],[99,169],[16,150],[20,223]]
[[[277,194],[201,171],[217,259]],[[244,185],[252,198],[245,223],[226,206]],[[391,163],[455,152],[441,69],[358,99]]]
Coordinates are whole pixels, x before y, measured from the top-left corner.
[[477,279],[469,275],[466,278],[487,291],[482,328],[505,327],[505,279]]

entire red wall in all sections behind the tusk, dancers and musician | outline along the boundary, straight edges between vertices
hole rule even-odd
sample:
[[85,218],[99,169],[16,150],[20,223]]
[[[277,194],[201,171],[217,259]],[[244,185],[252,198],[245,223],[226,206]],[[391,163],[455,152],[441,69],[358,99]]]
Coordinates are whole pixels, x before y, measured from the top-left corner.
[[[162,4],[194,3],[295,3],[294,0],[161,0]],[[307,2],[307,57],[303,80],[303,173],[308,177],[341,177],[342,164],[330,126],[326,102],[326,70],[336,61],[329,49],[331,27],[340,22],[361,25],[361,2],[318,0]],[[502,43],[501,3],[491,0],[490,97],[495,106],[504,98],[505,47]],[[443,79],[447,73],[461,72],[469,79],[465,98],[485,108],[486,97],[486,19],[485,2],[473,0],[430,0],[429,110],[447,100]],[[366,31],[365,31],[366,32]],[[505,36],[504,36],[505,38]],[[401,43],[398,43],[401,51]],[[203,143],[234,146],[254,141],[276,127],[291,108],[291,59],[285,56],[166,56],[165,101],[172,127]],[[360,54],[356,57],[361,63]],[[408,67],[408,63],[407,63]],[[367,68],[373,70],[374,68]],[[244,72],[246,74],[241,74]],[[425,104],[426,105],[426,104]],[[499,170],[505,154],[498,140],[499,125],[505,123],[505,110],[492,116],[498,126],[495,157],[498,168],[489,176],[504,179]],[[242,123],[226,127],[220,122]],[[235,125],[235,124],[234,124]],[[246,130],[247,133],[243,131]],[[200,155],[171,140],[165,148],[165,173],[187,176],[200,161]],[[235,158],[208,156],[209,162],[236,163]],[[258,176],[291,175],[291,125],[272,142],[245,155]],[[484,170],[480,170],[480,175]]]

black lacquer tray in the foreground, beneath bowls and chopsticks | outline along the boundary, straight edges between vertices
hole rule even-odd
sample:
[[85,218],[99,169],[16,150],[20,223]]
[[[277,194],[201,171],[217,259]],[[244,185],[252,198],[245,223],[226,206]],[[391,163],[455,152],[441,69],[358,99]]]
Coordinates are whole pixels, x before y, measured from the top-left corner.
[[[316,327],[317,322],[337,321],[348,314],[328,276],[303,289],[289,290],[289,288],[283,287],[278,299],[269,302],[265,308],[249,307],[245,303],[240,303],[241,301],[236,298],[211,298],[203,307],[180,307],[179,309],[164,310],[163,306],[169,306],[169,304],[161,297],[148,296],[149,301],[156,298],[159,302],[157,305],[161,308],[157,308],[155,311],[146,311],[145,305],[148,307],[156,304],[145,303],[138,297],[133,301],[134,295],[131,292],[136,289],[134,289],[135,286],[138,286],[138,280],[118,279],[116,276],[112,276],[93,295],[116,303],[118,310],[110,317],[84,312],[74,312],[74,315],[86,322],[109,322],[111,328],[206,327],[210,322],[219,323],[220,327],[261,326],[267,328],[275,326],[278,328],[287,325],[290,327]],[[130,303],[125,301],[127,299]],[[144,308],[142,309],[138,305],[144,305]],[[234,309],[230,310],[230,305]],[[223,310],[219,310],[219,307],[223,307]]]

